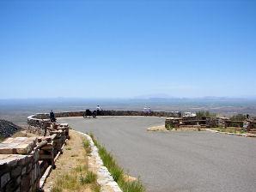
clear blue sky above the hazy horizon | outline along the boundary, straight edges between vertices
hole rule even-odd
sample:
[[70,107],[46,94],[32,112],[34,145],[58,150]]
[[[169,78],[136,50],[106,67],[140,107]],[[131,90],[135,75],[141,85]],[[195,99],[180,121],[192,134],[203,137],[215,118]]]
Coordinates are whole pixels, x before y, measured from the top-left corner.
[[255,96],[255,74],[255,0],[0,0],[0,99]]

